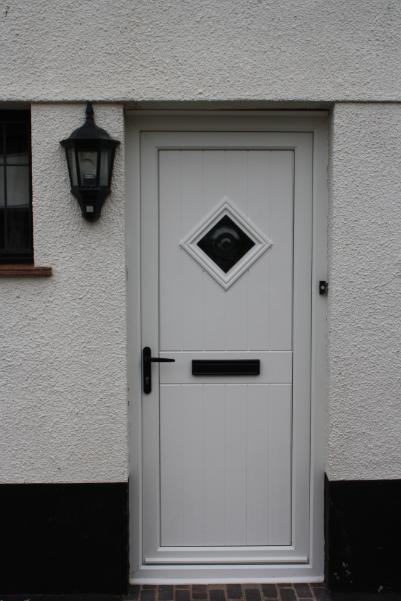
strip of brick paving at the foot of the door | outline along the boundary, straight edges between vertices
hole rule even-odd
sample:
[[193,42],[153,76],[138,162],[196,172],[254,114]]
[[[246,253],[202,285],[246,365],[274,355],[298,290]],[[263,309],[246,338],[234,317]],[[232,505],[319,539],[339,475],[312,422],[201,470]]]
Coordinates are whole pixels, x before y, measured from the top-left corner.
[[131,586],[126,601],[331,601],[324,584]]

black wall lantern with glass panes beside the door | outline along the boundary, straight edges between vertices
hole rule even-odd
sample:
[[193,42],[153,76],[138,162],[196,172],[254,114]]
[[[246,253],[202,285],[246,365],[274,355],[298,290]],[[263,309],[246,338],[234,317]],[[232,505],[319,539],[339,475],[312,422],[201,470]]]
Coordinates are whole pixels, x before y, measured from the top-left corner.
[[90,102],[85,114],[85,123],[60,144],[67,155],[71,192],[79,202],[83,217],[95,221],[110,194],[114,155],[120,142],[95,124]]

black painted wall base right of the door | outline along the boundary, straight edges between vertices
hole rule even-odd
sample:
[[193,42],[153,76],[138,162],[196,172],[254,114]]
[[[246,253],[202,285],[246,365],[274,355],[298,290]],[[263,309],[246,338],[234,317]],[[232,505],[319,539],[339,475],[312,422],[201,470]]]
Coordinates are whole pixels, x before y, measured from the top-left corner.
[[326,580],[333,591],[401,592],[401,480],[325,482]]

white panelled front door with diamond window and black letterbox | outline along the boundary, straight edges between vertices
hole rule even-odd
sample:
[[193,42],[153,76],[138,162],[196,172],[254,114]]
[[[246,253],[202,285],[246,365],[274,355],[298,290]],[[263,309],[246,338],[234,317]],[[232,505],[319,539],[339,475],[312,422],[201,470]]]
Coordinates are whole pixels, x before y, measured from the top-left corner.
[[312,134],[142,134],[143,565],[308,562],[311,257]]

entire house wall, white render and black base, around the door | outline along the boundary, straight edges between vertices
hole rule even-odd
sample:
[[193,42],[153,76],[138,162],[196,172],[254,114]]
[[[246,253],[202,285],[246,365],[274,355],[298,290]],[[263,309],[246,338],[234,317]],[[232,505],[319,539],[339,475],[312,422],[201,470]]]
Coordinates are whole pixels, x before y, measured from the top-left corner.
[[[86,100],[122,142],[125,107],[328,111],[327,577],[399,586],[400,53],[399,0],[0,3],[0,109],[31,107],[35,263],[53,268],[0,280],[0,592],[127,582],[129,165],[122,143],[88,225],[58,144]],[[21,565],[38,540],[45,573]]]

